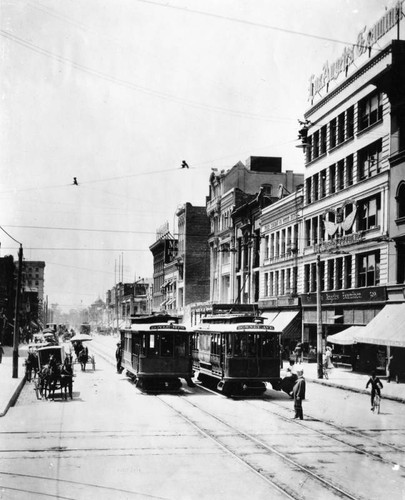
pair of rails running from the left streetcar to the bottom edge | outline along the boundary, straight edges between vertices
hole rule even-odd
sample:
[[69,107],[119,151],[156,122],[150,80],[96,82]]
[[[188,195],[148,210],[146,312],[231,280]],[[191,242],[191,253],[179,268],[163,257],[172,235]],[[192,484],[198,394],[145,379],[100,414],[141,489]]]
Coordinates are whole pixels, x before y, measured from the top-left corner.
[[[217,446],[220,446],[227,453],[231,454],[234,458],[236,458],[237,460],[239,460],[242,463],[244,463],[249,469],[253,470],[256,474],[258,474],[262,479],[264,479],[272,487],[276,488],[278,491],[280,491],[281,493],[285,494],[288,498],[291,498],[291,499],[294,499],[294,500],[296,500],[298,498],[301,498],[301,497],[297,496],[296,493],[288,491],[288,490],[290,490],[290,488],[286,487],[285,485],[280,486],[279,484],[277,484],[277,482],[274,480],[274,478],[273,479],[269,479],[266,475],[264,475],[264,473],[263,473],[264,471],[260,467],[258,468],[258,467],[255,467],[254,465],[250,464],[249,461],[246,458],[238,455],[237,453],[233,452],[229,447],[227,447],[226,445],[224,445],[223,443],[221,443],[221,441],[218,439],[218,436],[216,437],[213,433],[211,433],[211,432],[207,431],[206,429],[203,429],[202,427],[200,427],[192,419],[190,419],[189,417],[187,417],[182,411],[178,410],[173,405],[169,404],[162,397],[160,397],[160,396],[157,396],[157,397],[158,397],[158,399],[162,403],[164,403],[166,406],[168,406],[173,411],[175,411],[176,413],[178,413],[184,420],[186,420],[193,427],[195,427],[198,430],[198,432],[200,432],[204,436],[208,437],[210,440],[214,441]],[[181,398],[180,395],[177,396],[177,397]],[[307,476],[310,476],[311,478],[313,478],[316,481],[318,481],[319,483],[321,483],[323,486],[326,486],[328,490],[333,490],[334,493],[337,494],[338,496],[345,497],[345,498],[350,498],[352,500],[359,500],[359,498],[361,498],[361,497],[358,497],[358,496],[354,496],[352,493],[350,493],[348,491],[343,490],[338,485],[335,485],[333,482],[331,482],[330,480],[322,477],[320,474],[317,474],[317,473],[313,472],[308,467],[305,467],[305,466],[301,465],[299,462],[291,459],[286,454],[278,451],[276,448],[268,445],[267,443],[264,443],[264,442],[260,441],[256,437],[254,437],[254,436],[252,436],[252,435],[250,435],[250,434],[248,434],[248,433],[246,433],[244,431],[241,431],[241,430],[237,429],[233,425],[225,422],[223,419],[217,417],[216,415],[212,414],[211,412],[209,412],[207,410],[204,410],[203,408],[201,408],[198,405],[192,403],[188,399],[182,398],[182,401],[186,402],[187,404],[189,404],[190,406],[196,408],[197,410],[199,410],[199,411],[201,411],[201,412],[209,415],[213,419],[215,419],[218,422],[220,422],[222,425],[225,425],[226,427],[228,427],[229,429],[231,429],[237,435],[243,436],[244,438],[246,438],[246,439],[254,442],[260,448],[265,449],[267,451],[270,451],[271,453],[277,455],[279,458],[281,458],[285,462],[289,463],[293,467],[295,467],[295,468],[299,469],[300,471],[304,472]]]

